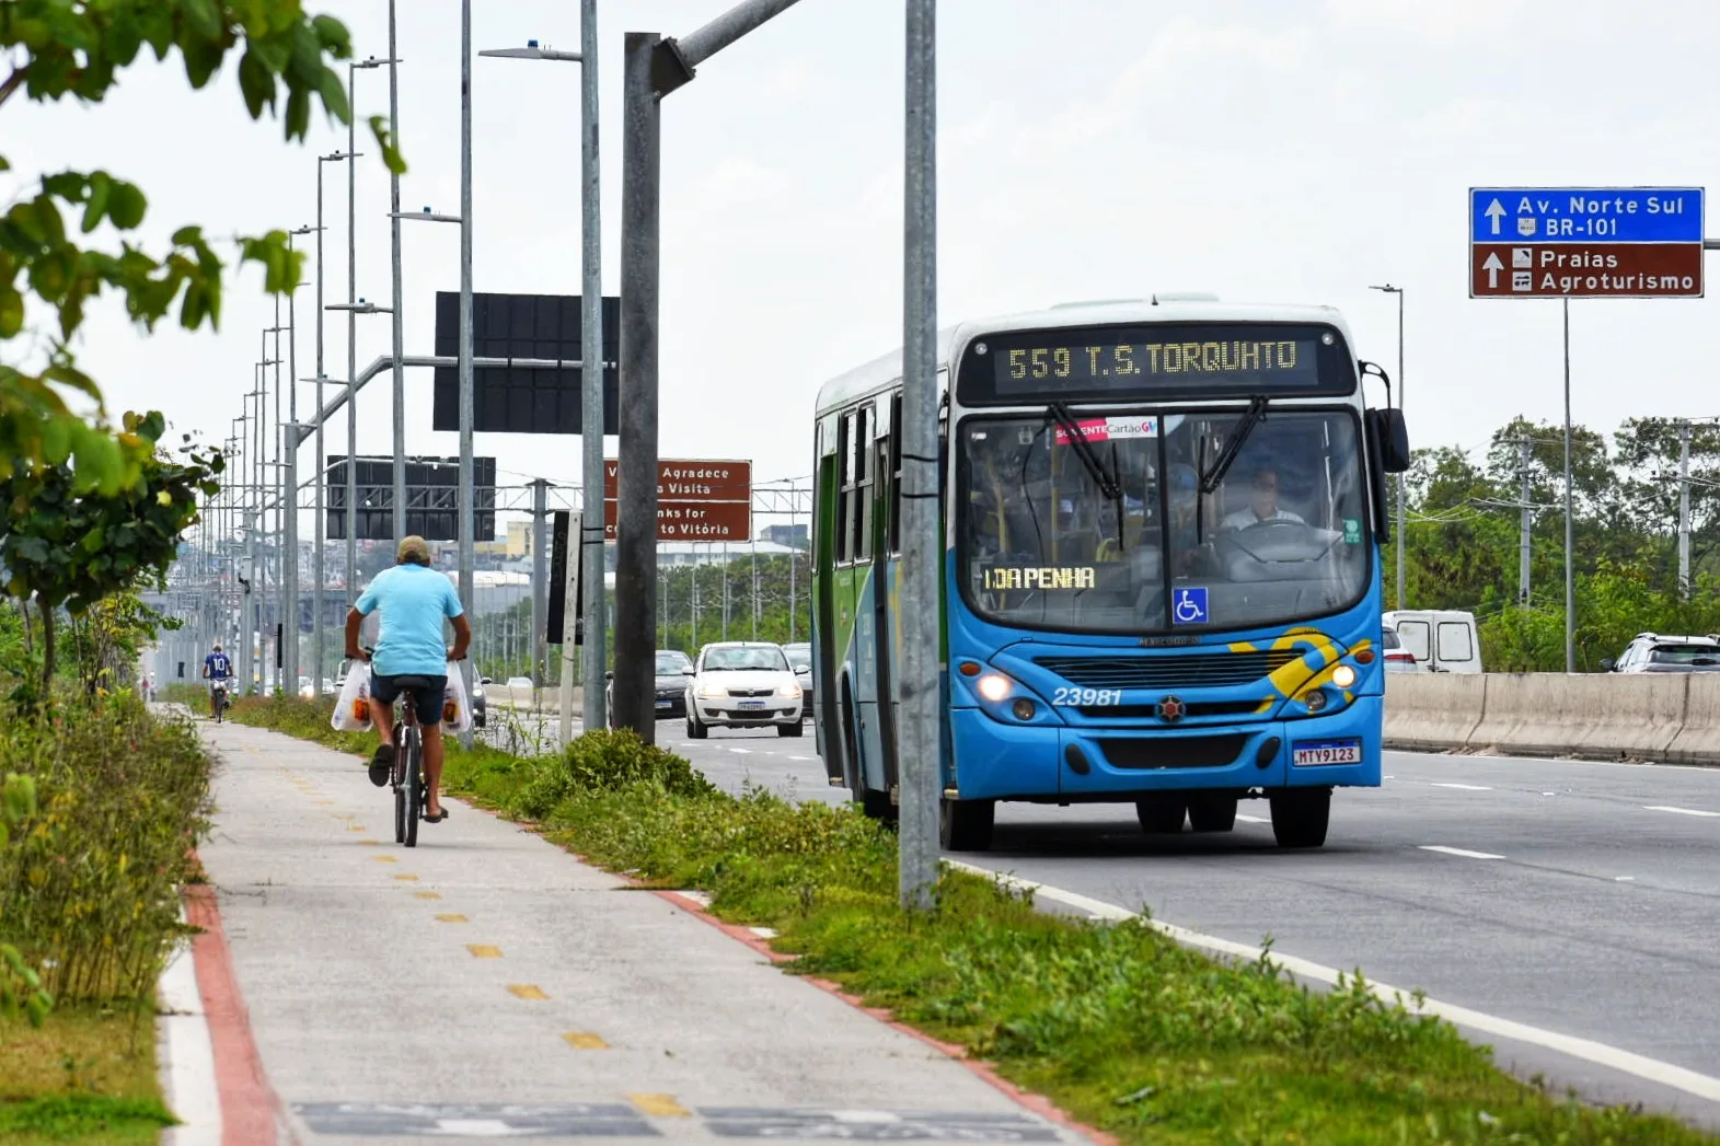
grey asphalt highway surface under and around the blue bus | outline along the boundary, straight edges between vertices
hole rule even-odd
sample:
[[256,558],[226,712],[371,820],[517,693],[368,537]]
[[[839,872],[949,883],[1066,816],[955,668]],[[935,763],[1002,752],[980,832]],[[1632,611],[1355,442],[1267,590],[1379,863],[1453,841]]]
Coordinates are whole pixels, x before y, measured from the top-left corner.
[[[728,790],[846,798],[810,726],[657,730]],[[1336,793],[1318,852],[1280,852],[1264,802],[1168,840],[1132,805],[1006,804],[992,850],[960,859],[1720,1079],[1720,769],[1391,752],[1385,771]],[[1720,1100],[1476,1038],[1522,1077],[1720,1129]]]

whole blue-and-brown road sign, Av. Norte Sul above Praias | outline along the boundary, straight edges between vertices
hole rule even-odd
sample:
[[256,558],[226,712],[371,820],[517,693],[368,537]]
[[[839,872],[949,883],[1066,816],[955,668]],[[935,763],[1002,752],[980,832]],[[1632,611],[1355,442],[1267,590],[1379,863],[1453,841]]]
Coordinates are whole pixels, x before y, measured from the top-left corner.
[[1701,188],[1471,188],[1471,298],[1692,298]]

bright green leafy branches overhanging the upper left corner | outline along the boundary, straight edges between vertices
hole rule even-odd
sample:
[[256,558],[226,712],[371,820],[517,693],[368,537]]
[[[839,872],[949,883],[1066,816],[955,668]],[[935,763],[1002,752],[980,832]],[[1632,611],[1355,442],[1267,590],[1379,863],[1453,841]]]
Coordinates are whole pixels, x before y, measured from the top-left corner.
[[[313,102],[341,122],[351,117],[329,65],[351,57],[351,36],[334,17],[306,15],[299,0],[5,0],[0,46],[14,60],[0,105],[19,91],[43,103],[101,103],[148,48],[157,60],[177,53],[196,89],[239,53],[246,110],[253,119],[277,114],[289,141],[304,138]],[[404,170],[384,120],[372,119],[372,131],[385,162]],[[0,170],[10,169],[0,155]],[[136,184],[105,170],[65,170],[43,174],[0,215],[0,478],[67,458],[77,463],[69,473],[79,490],[112,494],[139,478],[151,446],[107,422],[101,389],[72,351],[88,303],[110,291],[146,330],[175,310],[187,330],[213,329],[224,272],[196,225],[179,227],[165,251],[144,250],[132,236],[146,212]],[[83,244],[103,227],[119,237],[117,250]],[[298,284],[303,255],[284,231],[239,236],[236,246],[241,263],[263,268],[268,291]],[[52,311],[50,330],[29,329],[31,298]],[[69,406],[72,396],[96,404],[93,423]]]

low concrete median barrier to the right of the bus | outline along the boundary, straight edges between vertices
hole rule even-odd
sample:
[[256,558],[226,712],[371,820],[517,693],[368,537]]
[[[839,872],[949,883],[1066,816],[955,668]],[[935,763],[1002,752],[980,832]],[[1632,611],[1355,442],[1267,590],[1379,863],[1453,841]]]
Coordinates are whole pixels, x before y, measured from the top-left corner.
[[1720,764],[1720,675],[1488,673],[1386,680],[1386,745]]

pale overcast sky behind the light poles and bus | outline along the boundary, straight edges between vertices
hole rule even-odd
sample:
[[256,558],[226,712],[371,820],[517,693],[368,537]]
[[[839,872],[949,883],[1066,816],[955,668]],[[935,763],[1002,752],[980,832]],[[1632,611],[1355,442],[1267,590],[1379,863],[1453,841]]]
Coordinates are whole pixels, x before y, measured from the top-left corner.
[[[623,33],[685,34],[728,3],[600,3],[605,293],[619,284]],[[306,7],[344,19],[358,57],[387,55],[384,0]],[[475,48],[578,48],[573,0],[473,9]],[[664,103],[664,456],[807,475],[817,387],[900,344],[901,28],[901,3],[802,0]],[[401,0],[399,36],[402,206],[454,213],[458,0]],[[1213,291],[1338,306],[1359,353],[1395,368],[1395,299],[1367,289],[1390,280],[1407,289],[1417,446],[1477,447],[1517,413],[1560,416],[1558,303],[1467,298],[1469,186],[1720,186],[1711,0],[944,0],[937,40],[941,322]],[[573,64],[473,62],[478,291],[580,291],[578,83]],[[318,120],[284,145],[236,88],[229,67],[193,93],[174,62],[127,72],[98,108],[14,100],[9,191],[17,176],[105,167],[150,194],[157,250],[187,222],[315,222],[315,157],[344,131]],[[359,72],[356,107],[387,112],[385,71]],[[358,294],[385,301],[387,177],[366,134]],[[327,176],[327,301],[344,301],[346,176]],[[458,227],[406,227],[408,353],[432,351],[433,296],[458,289]],[[315,272],[299,293],[301,377],[315,372]],[[1576,418],[1613,430],[1720,413],[1715,306],[1574,303]],[[115,411],[160,408],[220,439],[272,320],[249,272],[218,334],[143,339],[107,299],[79,351]],[[330,377],[346,370],[346,325],[327,323]],[[359,318],[359,365],[387,348],[387,318]],[[454,454],[458,435],[430,430],[428,372],[408,375],[408,449]],[[387,453],[389,410],[385,380],[359,396],[361,453]],[[342,418],[330,453],[344,442]],[[478,453],[504,478],[580,475],[573,437],[480,435]]]

